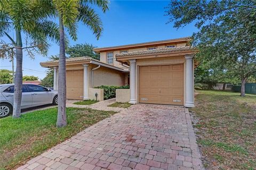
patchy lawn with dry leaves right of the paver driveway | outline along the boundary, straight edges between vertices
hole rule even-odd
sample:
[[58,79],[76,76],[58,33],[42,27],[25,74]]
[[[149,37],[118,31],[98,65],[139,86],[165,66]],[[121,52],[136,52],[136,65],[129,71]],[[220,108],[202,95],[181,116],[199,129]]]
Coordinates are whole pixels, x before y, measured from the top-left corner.
[[206,169],[256,169],[256,95],[198,92],[190,111]]

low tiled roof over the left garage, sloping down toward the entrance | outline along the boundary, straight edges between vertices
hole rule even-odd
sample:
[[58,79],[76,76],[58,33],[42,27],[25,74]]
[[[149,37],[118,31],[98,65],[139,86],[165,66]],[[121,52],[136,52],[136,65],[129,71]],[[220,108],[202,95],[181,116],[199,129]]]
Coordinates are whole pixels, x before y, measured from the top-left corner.
[[[84,56],[84,57],[74,57],[74,58],[66,58],[66,64],[67,63],[77,63],[77,62],[89,62],[92,64],[99,64],[105,67],[109,67],[111,69],[115,69],[115,70],[119,70],[119,71],[123,71],[123,72],[127,72],[128,70],[124,70],[120,67],[116,67],[114,65],[110,65],[104,62],[101,62],[99,60],[95,60],[92,57],[89,56]],[[54,60],[54,61],[47,61],[47,62],[41,62],[40,65],[44,66],[44,67],[50,67],[50,66],[58,66],[59,64],[59,60]]]

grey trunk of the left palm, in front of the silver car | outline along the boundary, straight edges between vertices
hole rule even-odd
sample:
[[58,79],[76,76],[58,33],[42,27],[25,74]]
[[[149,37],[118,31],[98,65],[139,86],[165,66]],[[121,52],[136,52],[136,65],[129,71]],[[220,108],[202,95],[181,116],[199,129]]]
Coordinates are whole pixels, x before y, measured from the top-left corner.
[[16,29],[16,71],[14,78],[14,97],[13,97],[13,118],[19,118],[21,113],[22,95],[22,40],[20,30]]

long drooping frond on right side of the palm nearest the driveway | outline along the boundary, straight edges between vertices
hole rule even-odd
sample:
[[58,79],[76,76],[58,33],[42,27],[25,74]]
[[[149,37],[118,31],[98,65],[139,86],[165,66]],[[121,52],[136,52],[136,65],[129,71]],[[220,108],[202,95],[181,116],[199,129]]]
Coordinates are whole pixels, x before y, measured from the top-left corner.
[[103,31],[102,21],[93,8],[88,5],[79,7],[78,21],[82,21],[83,24],[87,25],[92,31],[93,34],[99,39]]

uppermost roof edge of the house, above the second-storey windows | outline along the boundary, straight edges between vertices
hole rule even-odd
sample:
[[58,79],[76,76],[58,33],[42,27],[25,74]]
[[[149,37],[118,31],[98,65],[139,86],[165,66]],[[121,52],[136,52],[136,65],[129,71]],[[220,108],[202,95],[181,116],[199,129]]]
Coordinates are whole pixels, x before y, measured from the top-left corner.
[[169,43],[177,43],[180,41],[189,41],[191,40],[190,37],[184,38],[176,38],[176,39],[167,39],[161,41],[151,41],[147,43],[138,43],[138,44],[129,44],[129,45],[121,45],[121,46],[113,46],[113,47],[102,47],[102,48],[94,48],[94,52],[102,52],[105,50],[112,50],[112,49],[122,49],[122,48],[132,48],[132,47],[142,47],[142,46],[150,46],[150,45],[159,45],[159,44],[169,44]]

